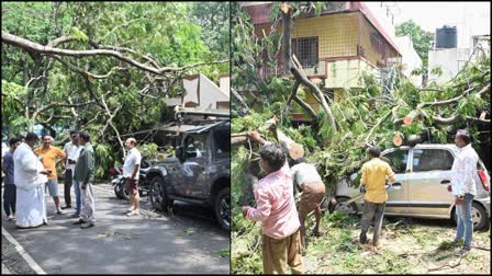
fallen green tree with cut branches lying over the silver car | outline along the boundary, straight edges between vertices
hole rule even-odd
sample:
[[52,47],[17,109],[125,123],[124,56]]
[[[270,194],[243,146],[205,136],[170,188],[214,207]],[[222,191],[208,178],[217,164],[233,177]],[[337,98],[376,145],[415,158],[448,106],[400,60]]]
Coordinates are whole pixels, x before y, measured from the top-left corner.
[[[299,14],[298,7],[292,3],[293,11],[286,13],[284,5],[273,5],[279,13],[273,22],[289,19],[282,13]],[[236,11],[236,16],[239,19],[237,24],[247,22],[247,14],[241,10]],[[468,64],[448,83],[429,81],[425,88],[414,85],[398,70],[393,70],[394,78],[391,78],[390,85],[364,73],[360,76],[364,88],[340,91],[335,102],[326,91],[305,77],[294,56],[287,58],[279,51],[286,47],[279,47],[276,43],[290,41],[279,38],[287,37],[284,33],[276,36],[272,27],[269,36],[258,38],[253,35],[253,25],[237,25],[233,30],[233,37],[247,36],[248,41],[261,41],[261,45],[275,45],[261,48],[259,43],[233,43],[233,53],[238,53],[241,58],[233,60],[237,64],[233,67],[233,76],[236,73],[237,78],[233,78],[232,87],[241,88],[236,90],[238,94],[268,95],[261,97],[260,107],[254,107],[254,100],[244,96],[249,115],[232,119],[232,238],[234,244],[238,244],[232,253],[235,273],[261,272],[260,249],[256,243],[258,227],[243,219],[239,206],[254,204],[254,182],[247,175],[250,163],[258,158],[258,147],[247,141],[245,133],[260,129],[267,140],[280,143],[269,129],[261,130],[264,122],[272,116],[281,117],[278,129],[293,142],[300,143],[308,161],[316,165],[327,194],[334,192],[337,181],[361,168],[367,161],[366,149],[370,146],[388,149],[423,142],[452,143],[456,130],[467,128],[477,139],[474,145],[490,147],[490,58]],[[282,66],[291,66],[292,74],[258,73],[261,72],[258,65],[261,65],[266,51],[269,57],[282,57],[279,60]],[[276,59],[269,60],[275,62]],[[278,68],[277,64],[271,66]],[[261,83],[257,82],[259,79]],[[318,112],[306,103],[308,93],[320,104]],[[293,112],[305,114],[311,118],[311,124],[293,127],[289,116]]]

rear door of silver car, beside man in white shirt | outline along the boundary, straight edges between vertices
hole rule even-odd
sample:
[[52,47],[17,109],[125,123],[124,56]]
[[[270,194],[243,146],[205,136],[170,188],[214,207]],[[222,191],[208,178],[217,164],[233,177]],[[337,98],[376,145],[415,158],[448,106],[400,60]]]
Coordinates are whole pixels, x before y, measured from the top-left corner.
[[444,148],[414,148],[409,175],[409,212],[447,217],[452,195],[447,191],[455,157]]

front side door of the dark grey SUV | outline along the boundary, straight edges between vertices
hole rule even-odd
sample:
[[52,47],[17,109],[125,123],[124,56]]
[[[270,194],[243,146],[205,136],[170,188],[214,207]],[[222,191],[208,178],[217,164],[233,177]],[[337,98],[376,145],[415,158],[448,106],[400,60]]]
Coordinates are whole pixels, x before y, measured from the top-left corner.
[[209,133],[190,134],[185,138],[185,161],[181,164],[181,180],[177,191],[187,197],[204,198],[210,163]]

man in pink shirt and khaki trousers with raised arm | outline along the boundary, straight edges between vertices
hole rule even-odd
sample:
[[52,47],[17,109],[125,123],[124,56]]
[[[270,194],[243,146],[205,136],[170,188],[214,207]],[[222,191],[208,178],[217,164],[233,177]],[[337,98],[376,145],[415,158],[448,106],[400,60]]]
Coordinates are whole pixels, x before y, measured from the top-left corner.
[[286,154],[276,145],[266,145],[258,133],[248,138],[265,145],[260,149],[260,166],[267,174],[255,187],[257,207],[243,207],[243,215],[260,221],[264,229],[264,274],[286,274],[287,265],[293,274],[302,274],[301,235],[293,183]]

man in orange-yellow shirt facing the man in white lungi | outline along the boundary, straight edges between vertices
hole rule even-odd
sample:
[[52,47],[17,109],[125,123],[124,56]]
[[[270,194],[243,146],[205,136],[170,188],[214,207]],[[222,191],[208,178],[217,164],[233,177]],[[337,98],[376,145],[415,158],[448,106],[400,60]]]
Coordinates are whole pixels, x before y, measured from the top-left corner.
[[56,175],[56,164],[58,163],[58,161],[64,159],[66,154],[63,150],[52,146],[52,136],[43,136],[43,147],[34,150],[34,153],[36,153],[36,156],[41,158],[44,168],[51,171],[51,173],[48,174],[48,182],[46,182],[46,186],[49,189],[49,195],[53,196],[53,200],[55,202],[56,214],[60,215],[63,212],[59,208],[58,176]]

